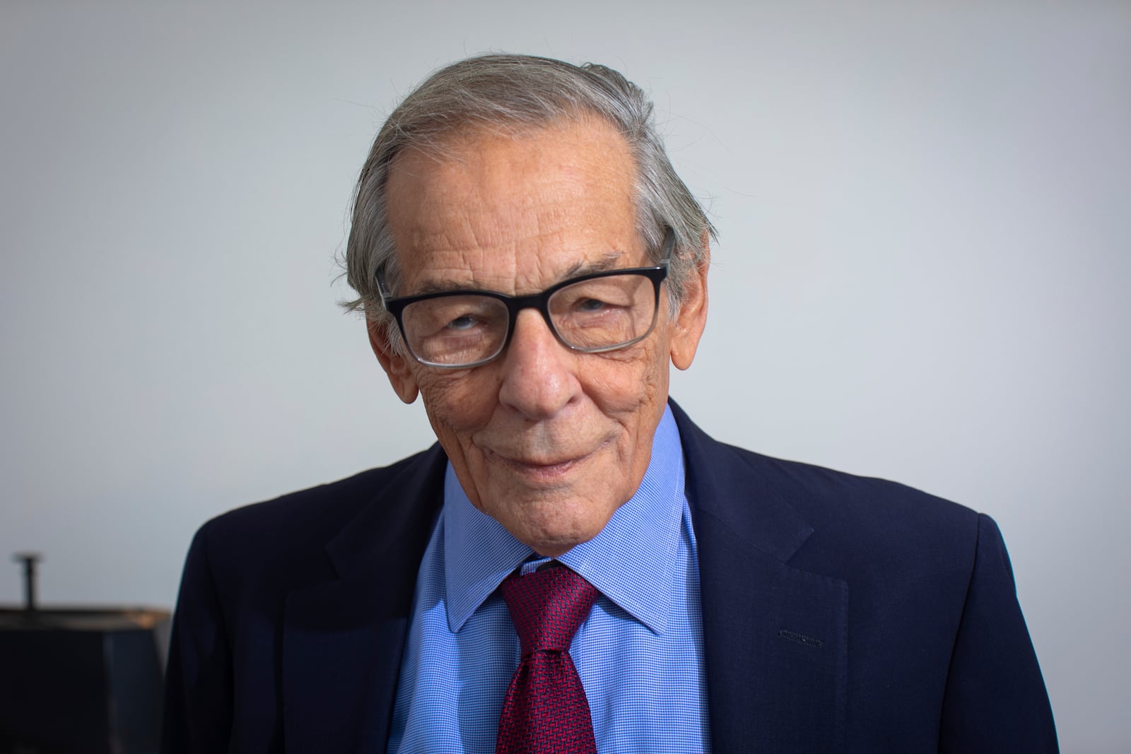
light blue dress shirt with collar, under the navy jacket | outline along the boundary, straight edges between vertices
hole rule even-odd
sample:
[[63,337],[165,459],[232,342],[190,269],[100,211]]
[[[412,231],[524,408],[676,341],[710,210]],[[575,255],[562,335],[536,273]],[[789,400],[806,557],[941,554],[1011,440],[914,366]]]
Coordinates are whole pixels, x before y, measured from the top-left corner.
[[[451,465],[421,562],[389,752],[492,754],[519,641],[499,583],[530,555]],[[707,752],[699,561],[671,409],[636,495],[558,558],[599,591],[570,647],[601,753]]]

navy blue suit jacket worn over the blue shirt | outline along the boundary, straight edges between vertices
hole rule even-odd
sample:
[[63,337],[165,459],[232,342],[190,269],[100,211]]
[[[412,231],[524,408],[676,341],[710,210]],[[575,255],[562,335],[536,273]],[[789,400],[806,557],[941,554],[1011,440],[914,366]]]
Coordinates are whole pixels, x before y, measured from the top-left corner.
[[[1056,751],[994,522],[715,442],[673,405],[725,752]],[[189,552],[165,752],[385,752],[437,445],[242,508]]]

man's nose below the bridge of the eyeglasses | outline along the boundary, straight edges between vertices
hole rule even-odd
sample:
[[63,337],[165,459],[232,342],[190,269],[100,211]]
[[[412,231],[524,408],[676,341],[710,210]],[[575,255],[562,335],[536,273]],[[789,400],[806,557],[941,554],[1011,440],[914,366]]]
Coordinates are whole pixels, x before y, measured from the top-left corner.
[[528,419],[554,416],[580,388],[573,374],[575,356],[536,309],[518,312],[510,345],[500,361],[499,401]]

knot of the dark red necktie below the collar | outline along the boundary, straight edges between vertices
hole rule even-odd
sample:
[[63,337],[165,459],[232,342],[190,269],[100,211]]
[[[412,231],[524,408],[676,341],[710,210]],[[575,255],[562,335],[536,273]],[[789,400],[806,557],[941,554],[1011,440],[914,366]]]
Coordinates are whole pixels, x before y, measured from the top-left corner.
[[500,589],[524,657],[539,649],[569,651],[573,634],[597,601],[597,589],[566,566],[511,574]]

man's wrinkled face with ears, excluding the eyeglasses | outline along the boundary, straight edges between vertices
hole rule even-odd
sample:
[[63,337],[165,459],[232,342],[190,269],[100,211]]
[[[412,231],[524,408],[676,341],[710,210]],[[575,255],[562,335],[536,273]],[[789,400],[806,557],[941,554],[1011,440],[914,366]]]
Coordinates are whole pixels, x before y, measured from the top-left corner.
[[[510,136],[451,137],[437,159],[399,155],[388,216],[397,295],[458,286],[520,295],[593,268],[651,263],[636,226],[624,140],[584,120]],[[517,539],[556,556],[596,536],[640,485],[667,400],[668,359],[687,369],[706,320],[706,266],[675,320],[603,354],[562,346],[534,309],[490,364],[424,366],[373,348],[397,393],[420,393],[467,496]]]

